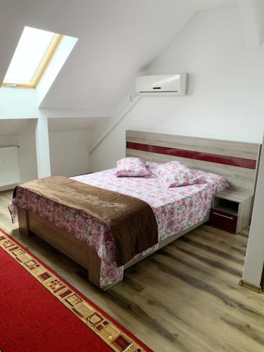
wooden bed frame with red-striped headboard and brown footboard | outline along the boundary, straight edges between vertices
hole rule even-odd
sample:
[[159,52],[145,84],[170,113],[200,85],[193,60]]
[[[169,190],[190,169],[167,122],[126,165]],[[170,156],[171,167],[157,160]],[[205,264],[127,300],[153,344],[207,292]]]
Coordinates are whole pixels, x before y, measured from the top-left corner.
[[[189,168],[222,175],[232,189],[253,195],[260,144],[139,131],[127,131],[126,144],[126,156],[137,156],[147,161],[161,163],[179,160]],[[158,244],[158,249],[208,221],[208,216],[206,215],[201,222],[183,232],[161,241]],[[21,232],[24,234],[33,232],[51,246],[65,253],[87,269],[89,281],[100,287],[101,258],[88,244],[84,244],[72,234],[61,230],[49,220],[45,220],[29,210],[18,208],[18,220]],[[131,260],[124,268],[129,268],[143,258]],[[106,291],[114,285],[111,284],[101,289]]]

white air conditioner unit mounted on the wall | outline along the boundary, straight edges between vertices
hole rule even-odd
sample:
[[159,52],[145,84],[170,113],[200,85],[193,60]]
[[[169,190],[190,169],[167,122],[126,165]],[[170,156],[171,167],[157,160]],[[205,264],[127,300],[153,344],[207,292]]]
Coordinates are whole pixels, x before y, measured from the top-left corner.
[[148,75],[136,78],[137,93],[141,95],[185,95],[187,73],[178,75]]

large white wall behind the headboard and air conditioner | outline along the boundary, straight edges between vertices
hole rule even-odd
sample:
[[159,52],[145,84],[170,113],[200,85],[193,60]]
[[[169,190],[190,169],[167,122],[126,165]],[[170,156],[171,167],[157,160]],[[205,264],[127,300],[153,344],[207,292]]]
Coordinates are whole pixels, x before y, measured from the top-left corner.
[[264,46],[248,49],[237,6],[194,15],[146,73],[190,74],[188,96],[144,97],[92,153],[92,170],[125,155],[125,130],[262,141]]

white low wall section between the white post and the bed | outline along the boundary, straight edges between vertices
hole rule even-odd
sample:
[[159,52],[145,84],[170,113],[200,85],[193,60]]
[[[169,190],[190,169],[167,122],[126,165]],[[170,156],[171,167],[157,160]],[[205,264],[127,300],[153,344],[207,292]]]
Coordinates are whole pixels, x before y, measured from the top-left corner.
[[49,132],[51,175],[74,176],[89,172],[89,132]]

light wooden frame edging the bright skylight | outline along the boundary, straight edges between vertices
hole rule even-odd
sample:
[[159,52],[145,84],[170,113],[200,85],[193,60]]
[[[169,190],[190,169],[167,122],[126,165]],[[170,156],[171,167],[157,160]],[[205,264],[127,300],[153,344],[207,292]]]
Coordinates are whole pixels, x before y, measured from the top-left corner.
[[48,49],[46,50],[46,53],[44,54],[42,60],[39,62],[39,66],[37,70],[34,73],[34,76],[30,83],[15,83],[15,82],[8,82],[4,81],[1,86],[2,87],[20,87],[20,88],[36,88],[37,84],[39,83],[39,80],[41,79],[42,75],[44,75],[44,72],[46,68],[48,67],[51,58],[54,56],[56,49],[58,48],[58,45],[61,43],[61,40],[63,39],[63,34],[57,34],[54,33],[54,37],[51,40],[51,44],[49,45]]

